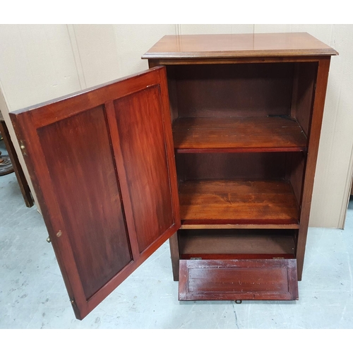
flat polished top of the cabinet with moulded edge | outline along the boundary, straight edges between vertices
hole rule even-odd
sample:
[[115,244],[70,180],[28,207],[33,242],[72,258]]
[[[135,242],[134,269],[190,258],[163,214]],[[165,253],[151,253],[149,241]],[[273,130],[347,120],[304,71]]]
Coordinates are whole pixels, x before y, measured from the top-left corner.
[[309,33],[165,35],[143,59],[337,55]]

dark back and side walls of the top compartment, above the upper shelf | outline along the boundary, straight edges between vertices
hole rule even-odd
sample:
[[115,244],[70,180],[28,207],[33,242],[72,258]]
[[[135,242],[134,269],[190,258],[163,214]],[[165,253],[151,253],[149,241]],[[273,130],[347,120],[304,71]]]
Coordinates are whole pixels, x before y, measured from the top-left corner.
[[251,117],[275,116],[296,121],[307,136],[317,68],[316,62],[168,65],[172,121],[223,124],[232,117],[249,124]]

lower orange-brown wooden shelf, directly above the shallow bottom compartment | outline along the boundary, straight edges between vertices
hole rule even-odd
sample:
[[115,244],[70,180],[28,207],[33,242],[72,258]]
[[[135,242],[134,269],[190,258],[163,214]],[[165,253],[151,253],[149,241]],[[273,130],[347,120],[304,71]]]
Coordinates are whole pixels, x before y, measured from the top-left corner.
[[285,180],[197,180],[179,186],[181,229],[299,228],[299,208]]

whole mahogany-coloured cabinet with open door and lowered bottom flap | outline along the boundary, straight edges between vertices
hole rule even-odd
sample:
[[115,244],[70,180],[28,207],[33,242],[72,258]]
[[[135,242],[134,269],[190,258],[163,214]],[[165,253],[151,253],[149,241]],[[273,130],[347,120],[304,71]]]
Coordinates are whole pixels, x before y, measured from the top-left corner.
[[11,113],[77,318],[168,238],[180,300],[298,299],[336,54],[165,36],[150,70]]

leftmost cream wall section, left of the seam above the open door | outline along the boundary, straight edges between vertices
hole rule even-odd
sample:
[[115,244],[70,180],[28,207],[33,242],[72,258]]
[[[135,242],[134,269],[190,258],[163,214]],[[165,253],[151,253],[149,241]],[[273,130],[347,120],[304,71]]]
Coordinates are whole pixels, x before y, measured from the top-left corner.
[[0,43],[0,109],[35,197],[8,111],[80,90],[71,39],[66,25],[0,25]]

